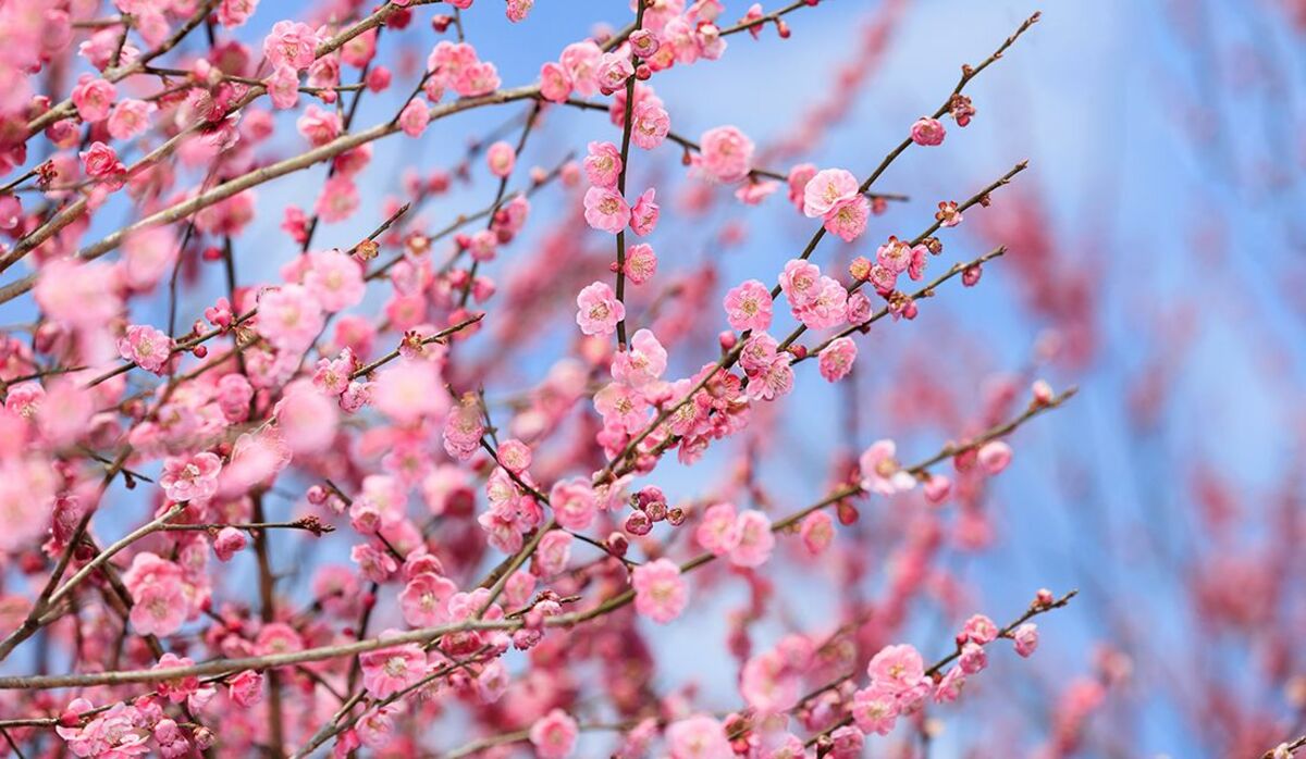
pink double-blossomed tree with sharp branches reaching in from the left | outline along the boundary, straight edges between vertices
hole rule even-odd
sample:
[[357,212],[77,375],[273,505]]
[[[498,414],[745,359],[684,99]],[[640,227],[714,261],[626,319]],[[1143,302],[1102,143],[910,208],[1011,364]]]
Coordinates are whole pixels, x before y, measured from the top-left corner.
[[[1037,14],[883,158],[823,167],[798,158],[901,3],[769,146],[682,125],[657,80],[735,44],[784,55],[846,4],[731,21],[718,0],[639,1],[511,86],[466,34],[492,0],[256,5],[0,4],[0,750],[848,758],[927,747],[990,657],[1034,653],[1034,617],[1074,591],[1030,588],[998,621],[953,604],[932,636],[913,606],[944,573],[932,514],[982,520],[1008,438],[1074,389],[1010,383],[914,459],[854,425],[806,505],[756,462],[797,386],[850,383],[865,335],[910,330],[1006,253],[1003,216],[982,222],[989,252],[948,236],[1024,162],[964,200],[880,179],[977,117],[968,85]],[[452,170],[398,188],[370,170],[375,145],[417,150],[471,111],[505,117]],[[550,133],[568,111],[610,124]],[[551,160],[528,168],[543,137]],[[427,213],[475,177],[478,205]],[[260,202],[283,184],[293,200]],[[368,194],[387,194],[371,218]],[[876,230],[891,205],[914,226]],[[713,206],[806,227],[782,267],[718,287],[682,254],[741,240]],[[255,233],[268,218],[274,237]],[[927,516],[882,529],[862,511],[883,503]],[[818,566],[884,583],[829,613],[781,604],[776,583]],[[704,672],[731,703],[660,691],[693,652],[658,635],[739,587],[737,666]]]

